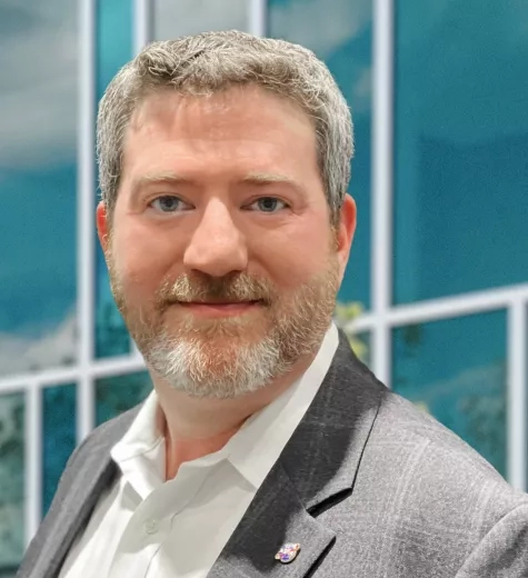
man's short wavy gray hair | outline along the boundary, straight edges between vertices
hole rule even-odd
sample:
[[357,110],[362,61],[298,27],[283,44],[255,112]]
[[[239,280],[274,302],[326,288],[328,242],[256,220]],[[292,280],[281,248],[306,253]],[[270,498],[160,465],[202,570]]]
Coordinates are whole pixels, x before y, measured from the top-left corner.
[[97,119],[99,182],[109,213],[120,183],[124,133],[141,99],[163,87],[200,97],[245,84],[292,99],[312,119],[325,193],[331,221],[337,223],[353,153],[352,120],[345,97],[310,50],[238,31],[153,42],[110,82]]

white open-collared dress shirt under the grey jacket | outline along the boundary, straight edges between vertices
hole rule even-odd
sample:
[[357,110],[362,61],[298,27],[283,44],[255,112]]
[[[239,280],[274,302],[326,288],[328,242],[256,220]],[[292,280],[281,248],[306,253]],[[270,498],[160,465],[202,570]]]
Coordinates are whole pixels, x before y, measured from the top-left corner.
[[111,450],[121,470],[60,578],[205,578],[312,402],[338,346],[332,325],[305,375],[226,446],[165,479],[156,392]]

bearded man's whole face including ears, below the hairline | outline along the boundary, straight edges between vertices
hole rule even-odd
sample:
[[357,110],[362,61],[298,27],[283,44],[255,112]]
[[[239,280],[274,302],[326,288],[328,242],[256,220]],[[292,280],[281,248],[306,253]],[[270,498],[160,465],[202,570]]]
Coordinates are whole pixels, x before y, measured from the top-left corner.
[[247,87],[148,97],[109,219],[100,205],[112,290],[147,365],[173,388],[226,398],[320,343],[356,212],[347,197],[330,227],[310,119]]

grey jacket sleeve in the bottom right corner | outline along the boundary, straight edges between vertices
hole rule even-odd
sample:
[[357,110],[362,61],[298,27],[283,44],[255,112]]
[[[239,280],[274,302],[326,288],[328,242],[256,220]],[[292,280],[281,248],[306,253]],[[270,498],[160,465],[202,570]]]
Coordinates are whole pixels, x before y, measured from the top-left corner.
[[528,502],[510,510],[486,534],[456,578],[528,578]]

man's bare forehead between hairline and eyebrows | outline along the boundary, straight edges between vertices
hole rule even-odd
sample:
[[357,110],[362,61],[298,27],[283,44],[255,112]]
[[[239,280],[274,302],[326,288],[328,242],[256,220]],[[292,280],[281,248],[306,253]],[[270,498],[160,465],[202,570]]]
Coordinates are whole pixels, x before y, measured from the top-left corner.
[[[170,150],[170,152],[163,152]],[[207,96],[162,89],[132,114],[124,140],[123,168],[167,155],[235,157],[291,165],[317,165],[316,132],[296,102],[260,87],[236,87]],[[255,158],[256,157],[256,158]],[[166,159],[167,160],[167,159]]]

